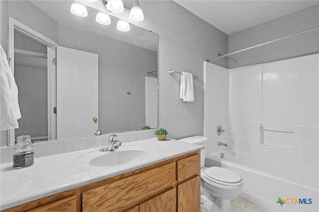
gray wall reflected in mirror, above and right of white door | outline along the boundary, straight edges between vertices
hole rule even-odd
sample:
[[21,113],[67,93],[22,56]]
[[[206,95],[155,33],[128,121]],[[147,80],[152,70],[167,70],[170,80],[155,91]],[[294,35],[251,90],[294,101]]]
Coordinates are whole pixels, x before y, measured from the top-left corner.
[[145,76],[157,70],[157,52],[64,24],[59,24],[58,43],[99,55],[99,129],[103,133],[139,130],[145,125]]

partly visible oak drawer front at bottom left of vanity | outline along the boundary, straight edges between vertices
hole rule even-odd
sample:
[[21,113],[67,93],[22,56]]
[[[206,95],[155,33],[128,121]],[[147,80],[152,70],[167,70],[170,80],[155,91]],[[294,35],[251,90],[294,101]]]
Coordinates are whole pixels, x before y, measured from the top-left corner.
[[76,212],[76,196],[38,207],[29,212]]

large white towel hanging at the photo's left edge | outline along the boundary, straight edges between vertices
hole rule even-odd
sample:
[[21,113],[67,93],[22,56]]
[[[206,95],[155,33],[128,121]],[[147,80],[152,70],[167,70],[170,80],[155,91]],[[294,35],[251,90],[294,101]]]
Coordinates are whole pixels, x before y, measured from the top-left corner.
[[18,88],[0,45],[0,130],[18,128],[19,118]]

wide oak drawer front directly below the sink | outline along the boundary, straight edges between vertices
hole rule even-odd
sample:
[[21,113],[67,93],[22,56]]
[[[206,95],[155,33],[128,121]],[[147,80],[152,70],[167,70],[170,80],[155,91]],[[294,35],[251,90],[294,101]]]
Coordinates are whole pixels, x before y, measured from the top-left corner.
[[175,184],[175,163],[84,192],[83,212],[124,211]]

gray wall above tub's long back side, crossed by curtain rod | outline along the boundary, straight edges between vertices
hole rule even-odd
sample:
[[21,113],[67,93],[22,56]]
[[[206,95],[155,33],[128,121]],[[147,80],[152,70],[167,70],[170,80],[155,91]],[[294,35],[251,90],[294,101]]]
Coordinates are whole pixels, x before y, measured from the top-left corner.
[[[319,4],[229,35],[228,52],[234,52],[319,26]],[[318,30],[229,56],[228,67],[299,57],[319,52]],[[224,60],[224,59],[217,59]]]

